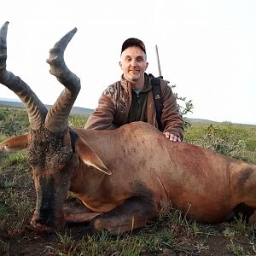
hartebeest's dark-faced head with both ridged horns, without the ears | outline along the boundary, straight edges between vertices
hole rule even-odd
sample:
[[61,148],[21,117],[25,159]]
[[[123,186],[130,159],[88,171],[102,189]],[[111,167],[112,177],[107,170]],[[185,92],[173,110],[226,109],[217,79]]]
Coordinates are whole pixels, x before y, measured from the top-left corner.
[[[47,226],[61,230],[64,224],[63,201],[73,172],[79,166],[79,156],[74,154],[72,133],[68,129],[68,115],[79,94],[80,80],[64,61],[64,51],[77,29],[68,32],[49,51],[49,72],[65,86],[65,90],[48,111],[24,81],[6,70],[8,25],[6,22],[0,31],[0,83],[20,97],[29,117],[31,131],[26,136],[27,159],[37,192],[32,225],[39,229]],[[99,165],[100,171],[108,172],[102,162]]]

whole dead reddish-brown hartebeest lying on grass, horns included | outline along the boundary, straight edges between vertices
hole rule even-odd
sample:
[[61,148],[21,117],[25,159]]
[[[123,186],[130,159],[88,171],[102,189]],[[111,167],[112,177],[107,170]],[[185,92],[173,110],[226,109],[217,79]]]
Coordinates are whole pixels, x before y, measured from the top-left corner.
[[[172,143],[143,122],[113,131],[68,128],[80,84],[63,54],[76,30],[50,50],[50,73],[66,89],[48,111],[27,84],[6,71],[7,26],[0,34],[0,82],[24,102],[31,131],[1,143],[0,149],[28,148],[37,192],[34,227],[61,230],[66,220],[88,220],[92,231],[117,233],[143,227],[169,201],[206,223],[224,221],[240,206],[254,212],[252,164],[189,143]],[[87,212],[63,211],[68,190]]]

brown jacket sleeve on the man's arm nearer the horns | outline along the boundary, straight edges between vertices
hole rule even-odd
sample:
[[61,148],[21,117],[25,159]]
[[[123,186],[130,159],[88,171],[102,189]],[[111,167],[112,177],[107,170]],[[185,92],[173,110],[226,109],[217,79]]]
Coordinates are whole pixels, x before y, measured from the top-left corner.
[[113,125],[113,114],[113,102],[110,97],[103,93],[99,99],[98,107],[90,114],[84,128],[93,130],[113,130],[115,129]]

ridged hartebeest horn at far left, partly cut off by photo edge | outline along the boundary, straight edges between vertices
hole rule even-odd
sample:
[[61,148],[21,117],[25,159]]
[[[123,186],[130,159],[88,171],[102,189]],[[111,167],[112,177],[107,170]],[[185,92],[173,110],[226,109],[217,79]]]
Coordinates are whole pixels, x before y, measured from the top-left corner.
[[32,130],[38,130],[44,124],[47,108],[24,81],[6,70],[8,25],[7,21],[0,29],[0,83],[20,97],[26,107]]

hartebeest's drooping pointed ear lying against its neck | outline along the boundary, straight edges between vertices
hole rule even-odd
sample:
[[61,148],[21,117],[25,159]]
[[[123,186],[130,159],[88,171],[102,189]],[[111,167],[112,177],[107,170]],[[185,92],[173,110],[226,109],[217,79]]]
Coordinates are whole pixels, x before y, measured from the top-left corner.
[[103,164],[100,157],[88,146],[87,143],[85,143],[85,141],[81,137],[77,137],[75,148],[77,154],[79,154],[79,157],[81,158],[81,160],[84,161],[85,165],[93,166],[97,170],[104,172],[108,175],[112,174]]

